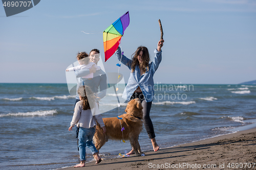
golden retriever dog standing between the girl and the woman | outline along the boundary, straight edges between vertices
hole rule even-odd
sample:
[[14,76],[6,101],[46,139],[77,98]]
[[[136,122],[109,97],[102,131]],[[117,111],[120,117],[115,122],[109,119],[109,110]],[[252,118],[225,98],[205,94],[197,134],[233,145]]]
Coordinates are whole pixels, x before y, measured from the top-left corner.
[[[143,154],[140,150],[140,144],[138,141],[139,134],[142,130],[142,105],[139,99],[131,100],[125,109],[126,114],[122,114],[119,117],[109,117],[103,118],[103,122],[105,124],[106,132],[103,133],[102,128],[98,125],[96,127],[96,132],[93,137],[93,141],[96,149],[99,149],[105,144],[109,139],[111,140],[130,140],[131,146],[133,147],[136,156],[140,156]],[[121,126],[124,128],[121,131]],[[122,135],[123,132],[123,135]]]

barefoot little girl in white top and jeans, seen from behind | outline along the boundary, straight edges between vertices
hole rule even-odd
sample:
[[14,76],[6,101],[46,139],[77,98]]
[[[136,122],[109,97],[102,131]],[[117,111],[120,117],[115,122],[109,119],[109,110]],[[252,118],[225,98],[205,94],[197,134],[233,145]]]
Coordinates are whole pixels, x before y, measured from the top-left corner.
[[103,133],[106,132],[106,129],[91,89],[88,86],[80,86],[77,93],[79,94],[80,102],[76,103],[69,131],[72,131],[72,128],[75,125],[79,127],[78,148],[80,163],[74,167],[83,167],[85,166],[84,162],[86,161],[86,146],[92,151],[96,163],[101,161],[99,153],[92,142],[97,126],[96,120],[102,128]]

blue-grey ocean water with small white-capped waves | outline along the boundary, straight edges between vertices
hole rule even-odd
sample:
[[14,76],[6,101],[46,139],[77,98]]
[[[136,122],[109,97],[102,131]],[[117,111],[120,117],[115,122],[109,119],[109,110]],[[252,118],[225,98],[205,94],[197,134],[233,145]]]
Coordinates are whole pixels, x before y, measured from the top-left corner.
[[[100,102],[102,117],[125,113],[124,86],[118,85]],[[210,138],[255,122],[255,85],[157,84],[151,109],[161,149]],[[0,169],[56,169],[75,165],[79,153],[75,131],[68,128],[75,96],[67,84],[0,84]],[[235,130],[235,129],[234,129]],[[143,130],[143,151],[152,150]],[[109,141],[100,149],[105,159],[131,149],[129,141]],[[87,161],[92,161],[90,150]]]

